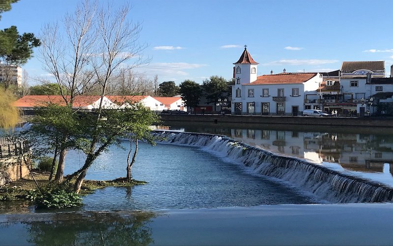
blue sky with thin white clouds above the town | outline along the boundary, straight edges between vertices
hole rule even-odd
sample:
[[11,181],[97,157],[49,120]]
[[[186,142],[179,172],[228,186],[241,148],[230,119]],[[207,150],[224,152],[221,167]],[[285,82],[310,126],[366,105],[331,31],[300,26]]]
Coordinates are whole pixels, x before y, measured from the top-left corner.
[[[0,29],[17,26],[39,37],[47,23],[61,21],[81,0],[19,0],[2,14]],[[99,0],[106,4],[108,0]],[[159,83],[213,75],[232,78],[233,63],[247,45],[259,63],[258,75],[326,72],[344,61],[393,64],[392,0],[110,0],[132,5],[130,21],[140,22],[139,42],[151,62],[136,72]],[[23,68],[46,76],[39,50]],[[29,80],[29,85],[37,82]]]

